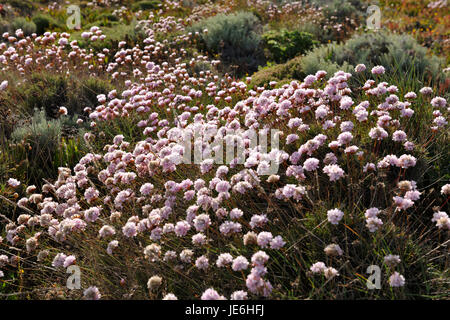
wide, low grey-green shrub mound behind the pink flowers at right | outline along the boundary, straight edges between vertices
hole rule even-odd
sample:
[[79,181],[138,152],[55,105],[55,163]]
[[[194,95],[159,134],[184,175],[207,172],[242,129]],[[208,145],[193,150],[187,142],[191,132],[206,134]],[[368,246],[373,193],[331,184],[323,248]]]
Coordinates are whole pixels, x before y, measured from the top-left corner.
[[[353,72],[357,64],[365,64],[369,70],[382,65],[389,78],[418,80],[416,83],[433,83],[443,78],[442,59],[427,54],[408,35],[396,35],[388,32],[373,32],[357,35],[346,43],[332,43],[314,48],[311,52],[288,61],[265,67],[252,76],[252,86],[262,86],[270,81],[286,79],[302,80],[308,74],[325,70],[333,75],[338,70]],[[355,77],[356,81],[358,77]],[[352,80],[353,81],[353,80]]]

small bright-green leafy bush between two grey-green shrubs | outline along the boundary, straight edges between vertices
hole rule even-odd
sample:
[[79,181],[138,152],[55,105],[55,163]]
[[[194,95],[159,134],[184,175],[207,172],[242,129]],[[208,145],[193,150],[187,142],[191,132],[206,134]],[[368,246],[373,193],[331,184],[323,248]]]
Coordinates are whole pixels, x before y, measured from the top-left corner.
[[285,62],[296,55],[310,50],[316,41],[307,32],[298,30],[271,30],[262,35],[264,47],[269,51],[268,58],[277,63]]

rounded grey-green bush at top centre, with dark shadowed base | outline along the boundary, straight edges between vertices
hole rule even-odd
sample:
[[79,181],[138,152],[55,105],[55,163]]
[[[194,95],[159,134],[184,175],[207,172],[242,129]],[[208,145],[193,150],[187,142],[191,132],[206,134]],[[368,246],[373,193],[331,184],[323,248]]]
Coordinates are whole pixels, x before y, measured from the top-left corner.
[[219,14],[198,22],[189,31],[199,33],[200,50],[220,55],[225,66],[234,68],[238,75],[254,72],[264,63],[261,24],[250,12]]

